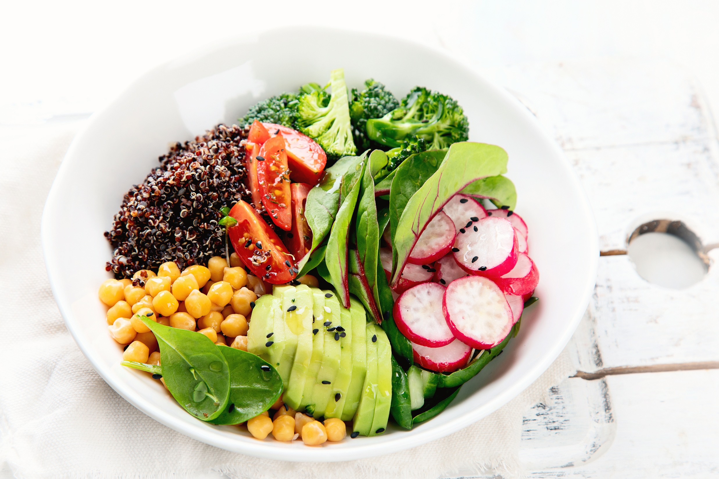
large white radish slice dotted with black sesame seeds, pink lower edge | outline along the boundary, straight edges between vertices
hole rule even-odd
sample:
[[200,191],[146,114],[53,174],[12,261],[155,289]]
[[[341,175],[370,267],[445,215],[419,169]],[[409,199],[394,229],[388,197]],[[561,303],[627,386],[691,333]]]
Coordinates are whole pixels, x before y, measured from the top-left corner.
[[494,278],[517,264],[517,235],[505,218],[482,218],[459,232],[452,251],[454,261],[467,273]]

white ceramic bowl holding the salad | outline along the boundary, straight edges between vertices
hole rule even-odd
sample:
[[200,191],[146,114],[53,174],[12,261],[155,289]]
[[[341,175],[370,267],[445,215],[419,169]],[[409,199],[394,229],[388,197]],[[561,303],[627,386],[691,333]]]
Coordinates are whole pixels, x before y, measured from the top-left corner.
[[[293,53],[305,45],[324,47],[320,55]],[[319,448],[301,441],[258,441],[237,427],[198,421],[159,381],[120,366],[122,348],[109,337],[106,307],[97,299],[99,284],[110,277],[104,265],[111,247],[103,232],[124,193],[142,182],[168,144],[192,139],[219,122],[232,124],[262,98],[310,81],[323,83],[339,67],[351,87],[371,77],[400,98],[414,85],[451,95],[470,119],[470,140],[508,152],[507,176],[518,191],[516,210],[528,224],[529,251],[541,274],[536,289],[540,301],[527,311],[521,332],[505,353],[465,384],[444,412],[410,431],[390,426],[377,437],[347,437]],[[577,178],[536,118],[505,90],[431,47],[375,34],[299,28],[244,37],[161,65],[93,115],[75,137],[47,197],[42,246],[68,330],[96,371],[127,401],[207,444],[303,462],[404,450],[451,434],[503,406],[564,348],[587,307],[598,258],[595,223]]]

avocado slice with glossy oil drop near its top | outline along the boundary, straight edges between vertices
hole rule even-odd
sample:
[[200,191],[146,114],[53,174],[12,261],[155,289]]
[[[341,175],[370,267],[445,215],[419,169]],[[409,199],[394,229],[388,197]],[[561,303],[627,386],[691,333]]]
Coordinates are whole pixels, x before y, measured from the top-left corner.
[[[287,294],[287,293],[285,293]],[[295,358],[290,371],[290,382],[287,391],[283,396],[283,401],[292,409],[298,409],[302,401],[302,394],[305,389],[305,381],[309,371],[310,360],[312,357],[312,292],[306,284],[300,284],[295,288],[294,302],[291,302],[288,308],[285,306],[285,297],[283,296],[283,309],[285,309],[286,324],[290,331],[297,335],[297,349],[295,350]],[[287,312],[292,306],[295,310]],[[272,339],[272,338],[270,338]]]

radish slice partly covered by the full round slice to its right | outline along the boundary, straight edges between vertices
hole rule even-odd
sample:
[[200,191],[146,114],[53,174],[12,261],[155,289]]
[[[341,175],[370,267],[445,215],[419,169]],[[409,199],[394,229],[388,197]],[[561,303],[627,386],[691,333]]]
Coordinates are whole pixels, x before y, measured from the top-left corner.
[[406,338],[418,345],[439,348],[454,341],[444,314],[442,298],[444,286],[437,283],[422,283],[403,292],[393,315],[395,324]]

